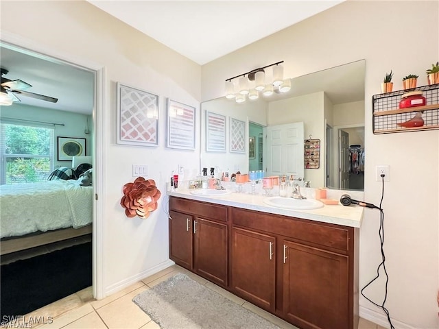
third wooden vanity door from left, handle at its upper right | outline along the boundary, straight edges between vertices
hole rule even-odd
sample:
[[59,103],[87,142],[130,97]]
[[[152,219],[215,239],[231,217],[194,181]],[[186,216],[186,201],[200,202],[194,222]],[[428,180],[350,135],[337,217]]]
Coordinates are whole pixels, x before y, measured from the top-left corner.
[[274,311],[276,238],[232,228],[231,288],[246,300]]

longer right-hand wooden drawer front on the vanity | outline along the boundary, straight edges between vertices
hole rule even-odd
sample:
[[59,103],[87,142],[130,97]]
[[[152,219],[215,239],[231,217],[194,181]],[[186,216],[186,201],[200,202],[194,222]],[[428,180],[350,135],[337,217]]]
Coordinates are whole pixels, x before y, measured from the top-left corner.
[[252,210],[230,208],[233,225],[287,236],[343,251],[349,249],[349,228]]

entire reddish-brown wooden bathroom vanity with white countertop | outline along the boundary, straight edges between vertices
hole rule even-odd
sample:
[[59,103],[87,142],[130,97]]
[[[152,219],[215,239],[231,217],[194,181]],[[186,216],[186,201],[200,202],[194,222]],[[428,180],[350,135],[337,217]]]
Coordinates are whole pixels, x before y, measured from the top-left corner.
[[285,210],[263,198],[170,192],[169,257],[300,328],[357,328],[364,208]]

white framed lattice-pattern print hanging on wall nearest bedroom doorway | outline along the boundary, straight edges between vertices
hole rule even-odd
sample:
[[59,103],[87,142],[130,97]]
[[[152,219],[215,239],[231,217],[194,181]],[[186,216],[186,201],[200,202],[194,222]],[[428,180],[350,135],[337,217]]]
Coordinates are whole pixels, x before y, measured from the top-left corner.
[[117,83],[117,144],[158,146],[158,95]]

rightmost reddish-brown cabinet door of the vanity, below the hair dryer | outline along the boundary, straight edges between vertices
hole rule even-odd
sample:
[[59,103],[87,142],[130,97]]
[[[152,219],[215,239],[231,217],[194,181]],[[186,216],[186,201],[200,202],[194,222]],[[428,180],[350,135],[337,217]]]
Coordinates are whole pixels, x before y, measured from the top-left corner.
[[348,256],[290,241],[283,247],[285,315],[304,328],[347,329]]

